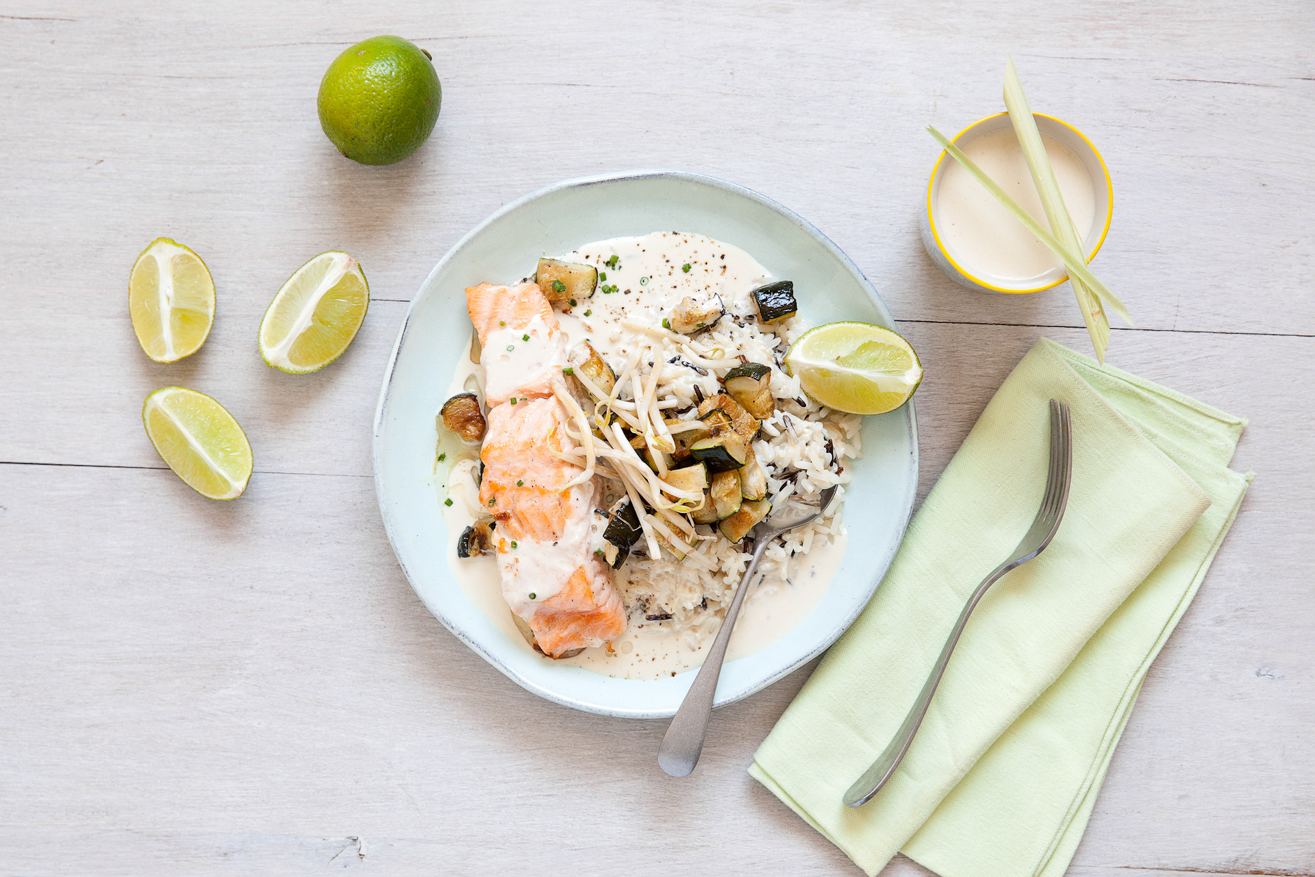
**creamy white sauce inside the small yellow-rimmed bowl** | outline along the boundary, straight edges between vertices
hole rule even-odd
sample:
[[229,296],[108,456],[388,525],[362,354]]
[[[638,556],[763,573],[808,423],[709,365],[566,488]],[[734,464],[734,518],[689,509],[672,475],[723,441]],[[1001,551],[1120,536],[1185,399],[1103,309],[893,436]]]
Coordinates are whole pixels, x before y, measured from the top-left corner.
[[[1086,239],[1095,218],[1095,185],[1081,159],[1049,134],[1041,143],[1073,217],[1078,237]],[[1041,199],[1027,170],[1027,159],[1011,128],[974,137],[960,147],[1001,184],[1043,229],[1049,227]],[[1059,258],[1014,218],[957,162],[944,160],[936,200],[936,231],[949,255],[980,277],[1023,281],[1060,266]]]

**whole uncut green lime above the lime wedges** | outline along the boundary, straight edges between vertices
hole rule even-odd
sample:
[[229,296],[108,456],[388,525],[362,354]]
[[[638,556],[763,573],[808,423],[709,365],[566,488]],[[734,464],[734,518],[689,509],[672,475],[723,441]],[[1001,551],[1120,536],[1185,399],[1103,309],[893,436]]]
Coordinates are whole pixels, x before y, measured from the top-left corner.
[[362,164],[392,164],[419,149],[442,103],[429,53],[401,37],[371,37],[334,58],[317,101],[325,134]]

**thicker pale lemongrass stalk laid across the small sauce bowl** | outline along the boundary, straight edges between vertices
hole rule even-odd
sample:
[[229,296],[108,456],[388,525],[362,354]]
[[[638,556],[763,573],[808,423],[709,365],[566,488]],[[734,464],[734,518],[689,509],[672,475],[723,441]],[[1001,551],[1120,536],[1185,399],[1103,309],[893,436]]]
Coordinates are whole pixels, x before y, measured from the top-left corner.
[[[1018,78],[1018,68],[1013,57],[1005,70],[1005,107],[1009,109],[1009,118],[1014,124],[1014,134],[1019,146],[1023,147],[1023,156],[1027,159],[1027,168],[1032,172],[1032,183],[1041,196],[1041,205],[1045,208],[1045,218],[1051,224],[1051,231],[1064,245],[1078,255],[1086,255],[1082,239],[1073,225],[1073,217],[1064,204],[1064,193],[1060,191],[1059,180],[1055,178],[1055,168],[1045,154],[1045,145],[1041,142],[1041,133],[1036,129],[1036,118],[1027,104],[1027,95],[1023,92],[1023,83]],[[1073,295],[1077,297],[1078,310],[1082,312],[1082,322],[1091,337],[1091,346],[1095,347],[1095,358],[1105,364],[1105,351],[1110,344],[1110,320],[1105,316],[1101,300],[1093,293],[1080,277],[1070,277]]]

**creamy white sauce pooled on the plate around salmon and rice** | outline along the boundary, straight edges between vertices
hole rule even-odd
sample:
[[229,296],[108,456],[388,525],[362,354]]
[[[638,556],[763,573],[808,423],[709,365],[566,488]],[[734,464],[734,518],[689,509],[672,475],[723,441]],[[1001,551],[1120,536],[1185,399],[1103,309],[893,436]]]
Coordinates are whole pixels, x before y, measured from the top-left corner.
[[[756,313],[750,291],[771,276],[757,260],[743,250],[694,234],[654,233],[636,238],[614,238],[581,246],[563,258],[571,262],[600,264],[613,255],[618,259],[613,267],[601,267],[600,271],[605,276],[600,276],[600,289],[593,297],[579,301],[575,308],[568,308],[568,313],[558,313],[567,350],[580,341],[588,339],[613,362],[625,360],[636,346],[643,343],[635,341],[633,333],[621,326],[622,321],[660,325],[661,318],[685,296],[698,298],[700,296],[719,295],[729,312]],[[684,271],[686,264],[690,266],[688,272]],[[617,291],[602,292],[602,285],[608,288],[615,285]],[[500,379],[493,372],[501,371],[501,366],[508,366],[510,372],[506,380],[512,380],[518,369],[525,369],[519,371],[522,377],[515,380],[515,385],[518,385],[525,383],[523,375],[529,369],[539,367],[540,363],[540,368],[547,368],[551,358],[526,351],[521,354],[523,359],[515,360],[515,351],[506,351],[505,347],[518,343],[529,346],[521,339],[521,335],[527,333],[522,330],[515,335],[517,339],[521,339],[519,342],[509,339],[501,344],[493,341],[493,334],[489,337],[490,341],[484,344],[483,358],[485,362],[497,363],[488,376],[488,393],[490,398],[498,398],[494,393],[494,381]],[[529,334],[531,339],[535,337],[533,333]],[[466,389],[472,376],[476,380],[481,377],[480,372],[484,368],[472,364],[468,354],[467,350],[467,355],[460,359],[456,373],[452,376],[448,388],[450,396]],[[501,354],[508,354],[508,360],[502,360]],[[490,360],[490,356],[496,360]],[[710,377],[710,380],[713,384],[710,389],[715,392],[715,377]],[[502,392],[510,394],[515,385],[506,387]],[[471,479],[469,465],[458,465],[448,477],[448,473],[439,464],[435,473],[438,501],[443,504],[443,518],[447,526],[448,567],[452,576],[467,598],[508,639],[526,651],[533,651],[512,621],[509,604],[521,605],[522,601],[529,600],[531,590],[538,600],[543,600],[544,594],[533,582],[547,581],[548,576],[562,579],[560,569],[556,567],[562,560],[556,557],[560,552],[540,551],[544,546],[535,546],[534,554],[546,556],[540,560],[531,560],[530,551],[525,551],[525,546],[518,546],[518,550],[513,552],[518,557],[514,559],[508,559],[504,554],[498,554],[496,557],[488,555],[471,559],[458,557],[458,538],[484,510],[479,508],[475,496],[477,488]],[[446,505],[447,500],[452,500],[452,504]],[[580,539],[588,544],[596,540],[600,535],[598,530],[601,530],[600,522],[598,515],[585,517],[584,522],[577,526],[581,530],[588,529],[590,533],[571,534],[564,536],[562,542]],[[813,611],[830,586],[844,556],[844,546],[846,536],[843,535],[835,536],[828,544],[822,544],[821,540],[814,542],[807,555],[796,559],[797,568],[788,582],[773,580],[761,584],[761,577],[755,577],[755,582],[750,585],[753,590],[746,598],[735,625],[727,660],[735,660],[767,648],[798,626]],[[515,573],[506,585],[498,575],[500,565],[512,567]],[[564,579],[562,580],[564,581]],[[706,631],[697,648],[690,648],[682,634],[672,634],[669,628],[664,628],[658,622],[644,621],[643,615],[638,618],[631,615],[625,634],[610,644],[586,648],[576,657],[564,659],[562,663],[622,678],[672,676],[702,665],[704,655],[715,635],[715,626],[710,627],[711,630]]]

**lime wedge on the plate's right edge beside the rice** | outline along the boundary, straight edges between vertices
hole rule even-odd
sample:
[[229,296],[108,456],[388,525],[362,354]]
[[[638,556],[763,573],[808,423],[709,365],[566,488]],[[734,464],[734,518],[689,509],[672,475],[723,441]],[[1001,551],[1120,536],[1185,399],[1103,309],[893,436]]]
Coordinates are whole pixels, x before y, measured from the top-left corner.
[[790,344],[785,368],[821,405],[849,414],[893,412],[922,383],[922,364],[909,342],[864,322],[807,330]]

